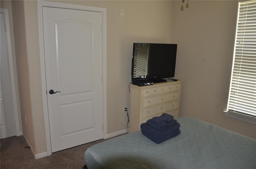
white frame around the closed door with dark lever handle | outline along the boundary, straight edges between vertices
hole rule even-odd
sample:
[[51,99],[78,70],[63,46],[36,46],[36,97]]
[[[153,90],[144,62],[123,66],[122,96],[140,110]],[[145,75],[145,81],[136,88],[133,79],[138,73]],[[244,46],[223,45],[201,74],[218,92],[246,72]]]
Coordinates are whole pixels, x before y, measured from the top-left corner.
[[49,2],[49,1],[37,1],[38,9],[38,32],[39,32],[39,49],[40,49],[40,67],[41,67],[41,81],[42,81],[42,97],[43,97],[43,110],[44,110],[44,126],[46,134],[46,148],[47,155],[52,154],[51,140],[50,140],[50,124],[49,124],[49,114],[48,114],[48,104],[47,104],[47,94],[46,94],[46,68],[44,60],[44,30],[43,30],[43,7],[54,7],[54,8],[68,8],[74,10],[87,10],[92,12],[102,13],[102,81],[103,81],[103,133],[104,139],[107,135],[107,121],[106,121],[106,8],[66,4],[60,2]]

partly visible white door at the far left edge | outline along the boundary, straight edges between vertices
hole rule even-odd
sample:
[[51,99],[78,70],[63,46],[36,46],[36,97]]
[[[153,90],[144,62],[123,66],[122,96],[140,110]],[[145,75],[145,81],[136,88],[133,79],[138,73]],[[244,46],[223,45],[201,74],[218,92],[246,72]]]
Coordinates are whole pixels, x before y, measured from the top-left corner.
[[6,28],[4,23],[4,14],[1,13],[0,19],[1,26],[1,76],[0,76],[0,128],[1,128],[1,138],[7,138],[11,136],[16,136],[16,124],[14,117],[14,104],[12,100],[12,89],[11,89],[11,79],[10,70],[8,63],[8,52],[6,44]]

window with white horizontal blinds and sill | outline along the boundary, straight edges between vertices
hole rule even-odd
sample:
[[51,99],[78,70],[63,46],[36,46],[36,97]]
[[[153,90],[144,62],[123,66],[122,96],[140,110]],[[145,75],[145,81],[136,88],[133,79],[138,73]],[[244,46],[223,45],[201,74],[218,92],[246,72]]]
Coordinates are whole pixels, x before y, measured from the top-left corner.
[[225,114],[256,124],[256,0],[239,2],[232,77]]

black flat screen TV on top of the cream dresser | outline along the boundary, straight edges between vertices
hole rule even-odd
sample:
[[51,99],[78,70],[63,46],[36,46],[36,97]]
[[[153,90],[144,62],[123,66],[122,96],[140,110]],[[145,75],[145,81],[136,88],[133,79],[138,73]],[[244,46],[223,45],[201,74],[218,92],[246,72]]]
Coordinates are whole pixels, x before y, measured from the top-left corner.
[[164,82],[175,74],[177,44],[134,43],[132,83]]

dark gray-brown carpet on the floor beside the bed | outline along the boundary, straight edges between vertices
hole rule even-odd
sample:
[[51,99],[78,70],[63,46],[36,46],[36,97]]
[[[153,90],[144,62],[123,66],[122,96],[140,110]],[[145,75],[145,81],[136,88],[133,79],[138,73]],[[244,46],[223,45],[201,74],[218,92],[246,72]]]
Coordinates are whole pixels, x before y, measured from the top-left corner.
[[0,168],[1,169],[82,169],[84,152],[98,140],[52,153],[40,159],[34,159],[23,136],[1,139]]

